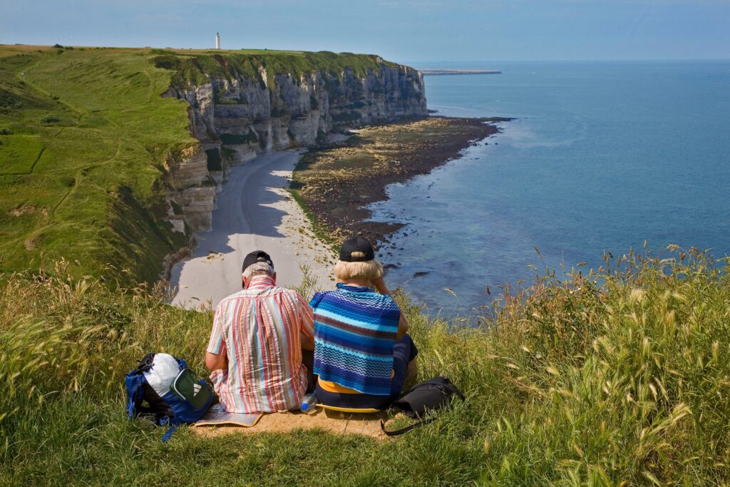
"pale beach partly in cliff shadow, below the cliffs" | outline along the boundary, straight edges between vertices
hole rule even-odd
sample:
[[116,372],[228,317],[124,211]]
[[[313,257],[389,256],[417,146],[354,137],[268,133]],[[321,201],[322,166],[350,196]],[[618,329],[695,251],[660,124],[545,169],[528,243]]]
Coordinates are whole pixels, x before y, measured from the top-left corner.
[[172,304],[215,307],[241,289],[241,264],[252,250],[272,256],[277,284],[301,283],[309,266],[318,288],[334,287],[334,252],[314,234],[285,188],[298,151],[266,153],[234,166],[216,198],[212,231],[195,234],[193,255],[172,269]]

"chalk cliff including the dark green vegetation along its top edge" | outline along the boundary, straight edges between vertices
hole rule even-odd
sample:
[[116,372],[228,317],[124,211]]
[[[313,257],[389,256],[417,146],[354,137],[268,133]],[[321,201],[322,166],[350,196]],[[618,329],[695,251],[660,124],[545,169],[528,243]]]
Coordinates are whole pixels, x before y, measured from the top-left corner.
[[427,115],[422,74],[374,55],[161,53],[153,61],[176,71],[166,96],[188,102],[200,143],[166,161],[169,221],[178,231],[210,230],[231,164],[312,147],[331,131]]

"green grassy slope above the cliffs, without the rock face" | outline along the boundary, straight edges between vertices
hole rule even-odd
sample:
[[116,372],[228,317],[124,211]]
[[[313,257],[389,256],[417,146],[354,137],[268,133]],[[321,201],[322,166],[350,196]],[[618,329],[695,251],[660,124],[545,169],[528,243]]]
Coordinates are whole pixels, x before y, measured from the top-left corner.
[[206,82],[207,74],[260,79],[259,66],[272,83],[283,72],[339,75],[349,66],[360,74],[377,69],[377,60],[328,52],[0,46],[0,270],[63,257],[82,263],[79,275],[126,285],[156,280],[164,255],[183,244],[161,221],[161,166],[168,153],[197,144],[187,130],[188,104],[161,94],[171,83]]

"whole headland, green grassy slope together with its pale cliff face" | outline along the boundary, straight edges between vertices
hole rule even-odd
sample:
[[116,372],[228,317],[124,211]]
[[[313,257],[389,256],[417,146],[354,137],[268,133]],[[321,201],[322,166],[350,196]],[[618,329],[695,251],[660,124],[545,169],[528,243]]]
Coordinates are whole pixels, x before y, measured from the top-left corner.
[[0,46],[0,271],[153,283],[228,164],[425,114],[421,88],[374,55]]

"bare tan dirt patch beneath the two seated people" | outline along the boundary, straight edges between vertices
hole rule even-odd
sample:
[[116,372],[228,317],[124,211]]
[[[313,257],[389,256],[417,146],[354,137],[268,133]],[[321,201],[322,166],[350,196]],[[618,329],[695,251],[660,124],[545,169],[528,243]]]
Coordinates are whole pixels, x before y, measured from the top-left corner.
[[375,440],[385,440],[388,437],[380,429],[380,418],[386,417],[386,413],[351,414],[318,410],[313,414],[304,414],[290,411],[265,414],[256,426],[250,428],[242,426],[201,426],[193,428],[191,431],[204,437],[212,437],[231,433],[287,433],[296,429],[324,429],[334,434],[361,434]]

